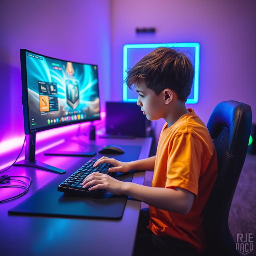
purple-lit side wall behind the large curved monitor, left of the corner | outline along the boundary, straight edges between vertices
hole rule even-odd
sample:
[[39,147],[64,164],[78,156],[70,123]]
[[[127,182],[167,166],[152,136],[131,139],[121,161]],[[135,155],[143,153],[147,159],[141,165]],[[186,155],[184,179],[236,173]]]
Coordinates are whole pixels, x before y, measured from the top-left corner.
[[[11,138],[20,138],[16,140],[18,147],[23,142],[21,48],[64,60],[98,64],[104,110],[110,87],[109,0],[4,0],[0,3],[0,25],[0,142],[5,142],[1,147]],[[54,130],[58,133],[58,129]]]

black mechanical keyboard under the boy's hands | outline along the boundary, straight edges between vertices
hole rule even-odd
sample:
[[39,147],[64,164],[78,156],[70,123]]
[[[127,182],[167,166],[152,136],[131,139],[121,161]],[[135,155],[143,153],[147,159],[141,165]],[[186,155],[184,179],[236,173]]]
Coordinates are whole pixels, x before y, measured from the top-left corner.
[[104,189],[96,189],[93,191],[88,190],[87,188],[82,188],[82,182],[86,176],[92,172],[101,172],[108,175],[111,175],[112,172],[108,172],[108,168],[114,167],[112,164],[100,164],[96,167],[93,167],[93,164],[98,160],[98,158],[91,158],[83,166],[81,166],[76,172],[69,176],[64,182],[58,186],[58,191],[64,192],[64,194],[70,196],[87,196],[87,197],[100,197],[104,192]]

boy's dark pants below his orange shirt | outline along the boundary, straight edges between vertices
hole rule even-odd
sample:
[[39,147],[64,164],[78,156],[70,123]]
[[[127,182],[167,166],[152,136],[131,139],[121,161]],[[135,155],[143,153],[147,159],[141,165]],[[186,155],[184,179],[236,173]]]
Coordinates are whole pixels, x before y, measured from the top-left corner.
[[195,256],[196,253],[187,242],[171,236],[157,236],[146,228],[149,223],[149,209],[140,210],[140,217],[133,256]]

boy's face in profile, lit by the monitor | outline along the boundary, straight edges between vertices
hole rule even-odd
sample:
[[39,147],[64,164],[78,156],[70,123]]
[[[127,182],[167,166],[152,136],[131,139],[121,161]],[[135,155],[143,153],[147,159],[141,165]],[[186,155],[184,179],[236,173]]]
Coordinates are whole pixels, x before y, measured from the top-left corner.
[[166,105],[163,102],[163,96],[156,93],[146,86],[144,81],[134,83],[135,90],[138,92],[137,105],[140,110],[146,115],[148,120],[158,120],[164,117],[164,110]]

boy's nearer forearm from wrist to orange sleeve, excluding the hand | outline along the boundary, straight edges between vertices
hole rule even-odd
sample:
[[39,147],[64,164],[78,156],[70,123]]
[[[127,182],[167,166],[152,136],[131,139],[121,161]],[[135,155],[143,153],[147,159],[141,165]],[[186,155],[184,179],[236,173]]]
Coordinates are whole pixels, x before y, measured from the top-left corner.
[[194,202],[194,194],[183,188],[156,188],[124,182],[122,192],[132,198],[169,212],[188,214]]

